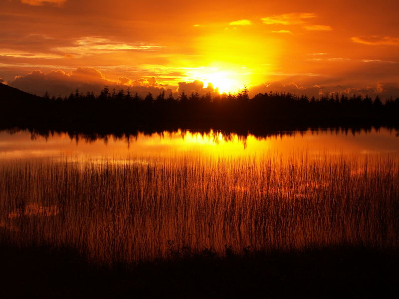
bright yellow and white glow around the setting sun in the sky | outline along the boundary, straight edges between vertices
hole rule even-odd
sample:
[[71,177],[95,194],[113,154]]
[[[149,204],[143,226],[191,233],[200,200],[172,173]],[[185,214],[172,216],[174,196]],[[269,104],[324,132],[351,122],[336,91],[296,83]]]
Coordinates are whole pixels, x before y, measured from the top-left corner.
[[[261,84],[273,71],[281,45],[272,37],[259,38],[252,26],[209,30],[196,39],[199,64],[187,70],[187,80],[211,83],[219,93],[237,93]],[[256,45],[256,46],[254,46]]]

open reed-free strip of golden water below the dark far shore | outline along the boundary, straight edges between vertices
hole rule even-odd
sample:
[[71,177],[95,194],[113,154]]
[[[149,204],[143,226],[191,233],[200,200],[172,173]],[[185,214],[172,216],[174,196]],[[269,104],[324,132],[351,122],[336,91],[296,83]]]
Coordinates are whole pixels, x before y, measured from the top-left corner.
[[0,132],[0,162],[47,158],[56,160],[68,156],[81,159],[128,159],[132,156],[160,157],[187,155],[248,157],[278,152],[289,157],[292,153],[306,153],[317,158],[320,154],[344,154],[362,157],[369,154],[398,154],[399,137],[393,130],[375,129],[352,132],[325,130],[280,132],[272,137],[255,138],[221,132],[175,133],[145,135],[130,138],[97,137],[55,134],[43,137],[29,132],[9,134]]

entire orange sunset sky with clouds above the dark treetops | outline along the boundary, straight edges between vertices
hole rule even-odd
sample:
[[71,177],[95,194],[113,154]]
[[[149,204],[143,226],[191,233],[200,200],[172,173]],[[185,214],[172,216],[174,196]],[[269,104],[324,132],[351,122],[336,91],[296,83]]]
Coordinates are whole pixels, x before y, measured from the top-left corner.
[[104,84],[191,92],[212,83],[221,92],[245,84],[252,94],[399,96],[398,1],[0,4],[0,78],[39,95],[98,93]]

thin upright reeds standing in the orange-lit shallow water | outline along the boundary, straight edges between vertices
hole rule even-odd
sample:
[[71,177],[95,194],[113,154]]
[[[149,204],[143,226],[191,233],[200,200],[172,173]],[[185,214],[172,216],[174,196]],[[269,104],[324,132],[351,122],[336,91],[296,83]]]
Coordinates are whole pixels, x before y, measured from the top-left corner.
[[0,165],[0,242],[131,263],[399,244],[398,157],[137,156]]

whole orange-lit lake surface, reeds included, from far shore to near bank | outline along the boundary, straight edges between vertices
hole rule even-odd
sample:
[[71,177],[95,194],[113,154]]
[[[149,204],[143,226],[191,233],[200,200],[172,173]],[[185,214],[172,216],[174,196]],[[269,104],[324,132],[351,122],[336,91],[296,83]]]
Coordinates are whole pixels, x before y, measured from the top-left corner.
[[395,131],[0,133],[0,240],[112,263],[399,245]]

